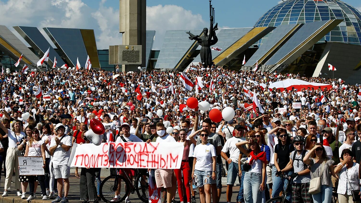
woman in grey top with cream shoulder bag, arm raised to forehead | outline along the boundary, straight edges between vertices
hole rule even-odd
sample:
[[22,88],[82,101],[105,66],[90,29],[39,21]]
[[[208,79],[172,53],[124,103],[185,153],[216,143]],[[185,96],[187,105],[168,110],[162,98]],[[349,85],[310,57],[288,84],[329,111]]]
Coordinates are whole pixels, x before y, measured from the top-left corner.
[[[331,176],[337,177],[334,172],[334,161],[329,159],[322,144],[317,143],[303,158],[309,165],[311,179],[321,177],[321,192],[313,194],[314,203],[329,203],[332,197]],[[322,174],[321,174],[322,172]]]

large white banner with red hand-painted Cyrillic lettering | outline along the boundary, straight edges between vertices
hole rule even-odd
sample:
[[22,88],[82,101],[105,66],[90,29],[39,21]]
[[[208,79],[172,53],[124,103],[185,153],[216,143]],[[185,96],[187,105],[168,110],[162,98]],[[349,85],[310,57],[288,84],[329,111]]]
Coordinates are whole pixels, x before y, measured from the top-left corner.
[[184,146],[179,142],[107,142],[78,145],[71,167],[181,168]]

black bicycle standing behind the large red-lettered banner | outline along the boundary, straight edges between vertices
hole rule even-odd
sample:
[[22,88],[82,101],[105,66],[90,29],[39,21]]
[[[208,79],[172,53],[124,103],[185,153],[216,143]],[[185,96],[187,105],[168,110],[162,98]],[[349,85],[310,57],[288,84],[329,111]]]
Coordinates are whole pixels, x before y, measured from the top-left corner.
[[[115,175],[110,175],[101,182],[99,188],[99,196],[106,203],[119,203],[125,200],[125,198],[135,191],[138,197],[143,202],[149,202],[149,187],[148,187],[148,173],[146,175],[140,174],[138,170],[131,169],[135,172],[134,184],[130,179],[128,173],[123,168],[120,171],[117,168]],[[114,199],[115,195],[118,195],[118,200]]]

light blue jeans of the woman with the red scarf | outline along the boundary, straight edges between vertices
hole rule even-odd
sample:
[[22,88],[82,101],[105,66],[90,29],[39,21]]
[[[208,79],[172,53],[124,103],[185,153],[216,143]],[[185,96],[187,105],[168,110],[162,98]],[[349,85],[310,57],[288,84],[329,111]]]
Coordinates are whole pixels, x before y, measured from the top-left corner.
[[243,180],[245,203],[260,203],[262,201],[262,192],[260,191],[261,182],[261,173],[245,172]]

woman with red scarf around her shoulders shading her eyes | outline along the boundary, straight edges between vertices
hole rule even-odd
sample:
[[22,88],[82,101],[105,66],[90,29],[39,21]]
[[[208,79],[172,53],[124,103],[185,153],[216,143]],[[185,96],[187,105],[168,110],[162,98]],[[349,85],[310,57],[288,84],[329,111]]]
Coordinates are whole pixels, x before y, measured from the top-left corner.
[[[242,145],[249,144],[248,150]],[[247,141],[238,142],[238,149],[247,155],[247,163],[243,165],[245,171],[243,181],[244,201],[247,203],[262,202],[262,191],[265,189],[266,180],[266,153],[261,151],[257,140],[247,138]]]

